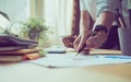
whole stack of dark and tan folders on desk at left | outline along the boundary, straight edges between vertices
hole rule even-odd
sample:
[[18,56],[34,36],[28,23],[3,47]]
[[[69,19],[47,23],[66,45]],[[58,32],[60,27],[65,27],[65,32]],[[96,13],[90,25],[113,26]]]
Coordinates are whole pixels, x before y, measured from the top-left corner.
[[40,57],[38,43],[0,34],[0,61],[33,60]]

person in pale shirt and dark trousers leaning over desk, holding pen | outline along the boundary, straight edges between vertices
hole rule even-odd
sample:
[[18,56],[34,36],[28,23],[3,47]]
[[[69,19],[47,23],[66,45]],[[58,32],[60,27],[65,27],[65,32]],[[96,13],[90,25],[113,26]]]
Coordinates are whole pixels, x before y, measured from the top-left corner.
[[[73,48],[88,54],[92,48],[120,49],[116,22],[117,10],[128,17],[129,0],[80,0],[80,34],[74,37]],[[128,25],[128,20],[126,20]],[[94,32],[95,35],[92,35]],[[67,38],[63,37],[63,44]],[[64,44],[66,45],[66,44]]]

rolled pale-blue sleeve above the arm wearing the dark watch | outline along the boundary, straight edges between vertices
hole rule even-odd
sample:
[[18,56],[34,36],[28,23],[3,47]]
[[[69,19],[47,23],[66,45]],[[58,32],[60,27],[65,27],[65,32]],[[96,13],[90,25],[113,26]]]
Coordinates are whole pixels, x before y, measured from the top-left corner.
[[116,13],[116,9],[122,8],[120,0],[96,0],[96,4],[97,16],[105,11]]

